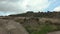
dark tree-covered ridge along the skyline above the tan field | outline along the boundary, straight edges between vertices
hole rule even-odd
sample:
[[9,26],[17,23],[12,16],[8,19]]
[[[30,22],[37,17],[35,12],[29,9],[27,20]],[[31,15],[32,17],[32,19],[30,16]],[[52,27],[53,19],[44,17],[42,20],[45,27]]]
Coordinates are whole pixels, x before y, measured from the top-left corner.
[[27,13],[22,13],[22,14],[17,14],[17,15],[9,15],[9,16],[13,16],[13,17],[46,17],[46,18],[60,18],[60,12],[38,12],[38,13],[34,13],[33,11],[28,11]]

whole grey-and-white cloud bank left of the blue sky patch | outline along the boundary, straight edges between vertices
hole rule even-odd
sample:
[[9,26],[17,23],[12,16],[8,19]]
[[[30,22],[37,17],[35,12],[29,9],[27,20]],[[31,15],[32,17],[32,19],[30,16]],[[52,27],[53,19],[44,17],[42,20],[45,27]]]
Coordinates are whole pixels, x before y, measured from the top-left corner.
[[43,11],[49,4],[48,0],[0,0],[0,11],[4,14]]

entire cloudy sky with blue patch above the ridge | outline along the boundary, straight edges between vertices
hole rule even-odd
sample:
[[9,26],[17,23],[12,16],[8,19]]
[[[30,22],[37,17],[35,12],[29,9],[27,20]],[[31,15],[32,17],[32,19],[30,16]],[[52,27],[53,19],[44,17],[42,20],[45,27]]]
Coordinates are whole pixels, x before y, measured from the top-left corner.
[[0,16],[27,11],[60,11],[60,0],[0,0]]

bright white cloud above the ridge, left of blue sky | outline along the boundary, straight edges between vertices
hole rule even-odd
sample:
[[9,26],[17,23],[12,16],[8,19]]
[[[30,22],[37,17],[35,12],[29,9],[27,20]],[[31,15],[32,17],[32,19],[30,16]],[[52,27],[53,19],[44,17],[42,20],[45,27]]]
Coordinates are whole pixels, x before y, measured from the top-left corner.
[[48,0],[25,0],[23,1],[23,8],[25,10],[42,11],[49,6]]

